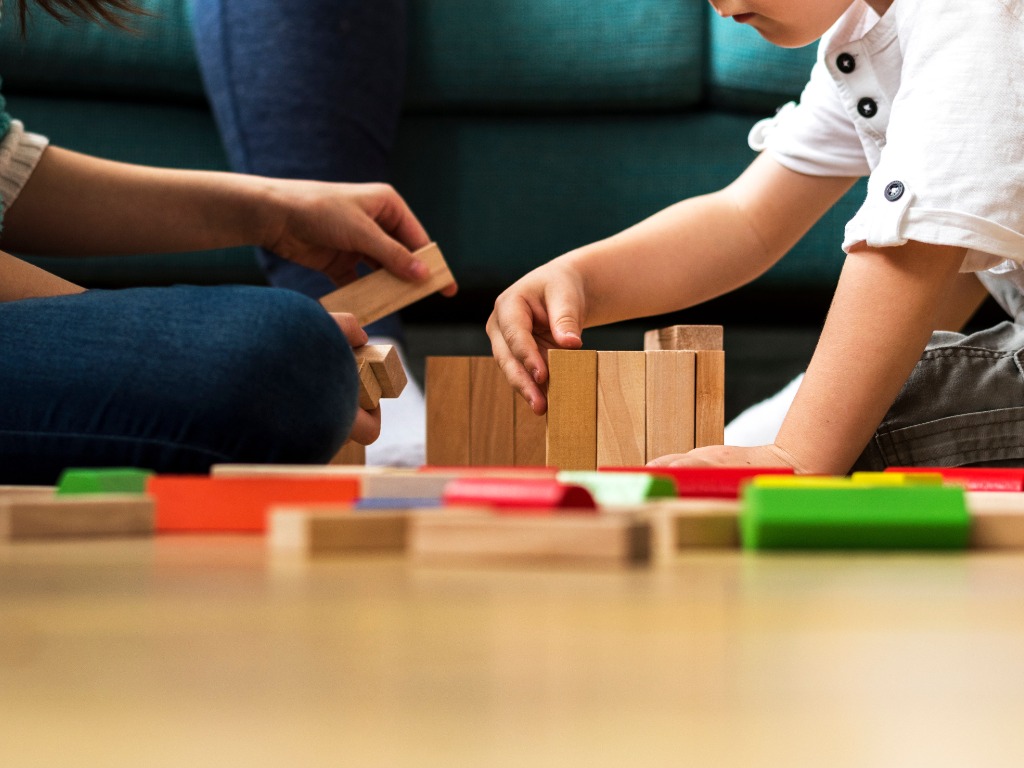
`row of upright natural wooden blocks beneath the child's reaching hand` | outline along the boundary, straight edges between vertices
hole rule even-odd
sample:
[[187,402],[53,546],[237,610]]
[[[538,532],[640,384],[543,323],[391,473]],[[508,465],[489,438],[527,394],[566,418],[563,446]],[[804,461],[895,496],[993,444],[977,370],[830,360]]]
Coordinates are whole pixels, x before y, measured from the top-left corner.
[[721,444],[721,326],[649,332],[644,351],[552,349],[548,413],[534,414],[490,357],[428,357],[427,464],[642,466]]

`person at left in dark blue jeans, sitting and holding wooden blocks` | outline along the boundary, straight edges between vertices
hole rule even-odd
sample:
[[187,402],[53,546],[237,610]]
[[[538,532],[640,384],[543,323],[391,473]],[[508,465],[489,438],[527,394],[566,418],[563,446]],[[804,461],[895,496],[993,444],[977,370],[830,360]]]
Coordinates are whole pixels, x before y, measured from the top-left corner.
[[[38,4],[118,26],[135,10]],[[0,112],[0,483],[51,483],[68,466],[325,462],[346,437],[375,439],[379,412],[356,407],[351,345],[367,336],[352,315],[270,288],[86,292],[6,251],[253,245],[336,283],[364,258],[424,278],[411,251],[428,237],[390,187],[115,163],[49,146]]]

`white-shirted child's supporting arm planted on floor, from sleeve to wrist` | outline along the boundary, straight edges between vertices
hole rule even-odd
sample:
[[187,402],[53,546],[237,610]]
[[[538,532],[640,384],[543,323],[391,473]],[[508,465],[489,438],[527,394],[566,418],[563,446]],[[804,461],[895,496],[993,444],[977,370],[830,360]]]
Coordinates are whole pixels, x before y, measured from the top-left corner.
[[958,291],[964,249],[908,243],[847,257],[807,376],[775,445],[804,472],[856,461]]

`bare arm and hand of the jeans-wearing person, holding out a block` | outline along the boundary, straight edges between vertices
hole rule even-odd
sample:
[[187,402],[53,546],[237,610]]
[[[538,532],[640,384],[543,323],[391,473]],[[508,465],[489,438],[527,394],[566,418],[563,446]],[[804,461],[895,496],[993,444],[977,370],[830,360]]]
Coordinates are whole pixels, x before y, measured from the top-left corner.
[[410,280],[410,253],[429,242],[384,184],[291,181],[150,168],[50,146],[4,218],[0,244],[23,253],[159,253],[263,246],[327,272],[355,276],[367,257]]

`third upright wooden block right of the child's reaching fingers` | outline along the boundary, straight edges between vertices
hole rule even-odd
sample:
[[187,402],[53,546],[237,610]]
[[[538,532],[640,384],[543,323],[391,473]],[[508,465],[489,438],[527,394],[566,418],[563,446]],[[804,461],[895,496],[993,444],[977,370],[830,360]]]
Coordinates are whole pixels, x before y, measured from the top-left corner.
[[647,461],[692,451],[696,415],[696,353],[663,350],[645,354]]

